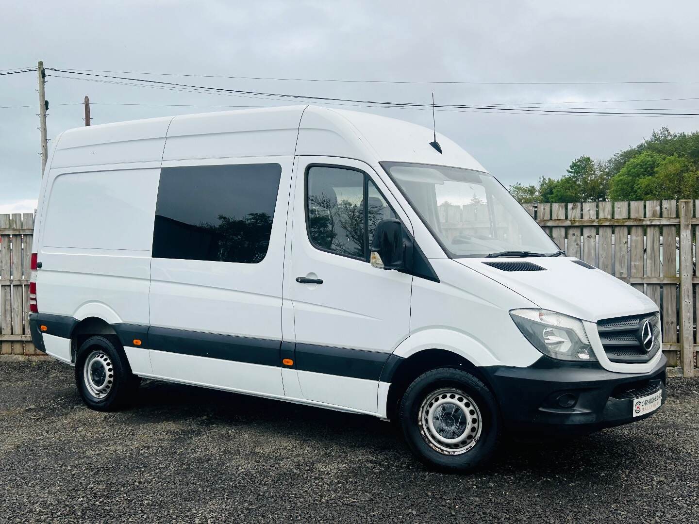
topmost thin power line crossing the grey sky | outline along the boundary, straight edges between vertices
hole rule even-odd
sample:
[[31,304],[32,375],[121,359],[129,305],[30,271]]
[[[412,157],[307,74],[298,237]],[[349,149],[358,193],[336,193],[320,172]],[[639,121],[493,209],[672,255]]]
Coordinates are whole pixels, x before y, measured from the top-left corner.
[[[55,70],[58,71],[58,70]],[[228,78],[232,80],[278,80],[285,82],[347,82],[362,84],[423,84],[423,85],[610,85],[610,84],[698,84],[699,82],[677,82],[677,81],[622,81],[622,82],[473,82],[463,80],[349,80],[337,78],[277,78],[263,76],[226,76],[226,75],[195,75],[188,73],[152,73],[145,71],[106,71],[101,69],[73,69],[66,68],[68,73],[117,73],[121,75],[153,75],[153,76],[180,76],[192,78]]]

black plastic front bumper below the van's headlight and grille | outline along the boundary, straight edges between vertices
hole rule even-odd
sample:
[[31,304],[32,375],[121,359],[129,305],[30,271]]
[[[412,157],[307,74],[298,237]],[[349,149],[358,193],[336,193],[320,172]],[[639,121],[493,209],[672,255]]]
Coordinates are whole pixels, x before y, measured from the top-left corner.
[[490,366],[487,373],[505,427],[513,431],[580,435],[646,419],[634,416],[634,400],[661,393],[665,366],[648,373],[615,373],[599,363],[554,361],[542,356],[530,367]]

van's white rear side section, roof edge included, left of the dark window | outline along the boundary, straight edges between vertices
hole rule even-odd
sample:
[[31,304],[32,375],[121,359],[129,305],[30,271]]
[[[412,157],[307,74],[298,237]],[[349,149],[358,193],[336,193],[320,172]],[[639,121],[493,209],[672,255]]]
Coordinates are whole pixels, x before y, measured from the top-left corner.
[[75,355],[71,330],[56,329],[52,335],[54,326],[72,329],[78,321],[97,318],[117,325],[118,333],[119,324],[150,322],[155,196],[171,120],[71,129],[55,140],[32,251],[41,262],[36,275],[39,315],[55,321],[47,323],[44,339],[57,358],[71,361]]

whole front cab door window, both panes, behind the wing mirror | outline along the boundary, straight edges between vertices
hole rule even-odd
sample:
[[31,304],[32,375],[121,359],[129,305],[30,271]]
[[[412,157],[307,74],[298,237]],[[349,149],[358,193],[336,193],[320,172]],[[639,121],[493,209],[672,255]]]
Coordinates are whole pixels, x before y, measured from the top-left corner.
[[308,184],[308,233],[316,247],[368,259],[378,221],[396,218],[367,175],[348,168],[312,166]]

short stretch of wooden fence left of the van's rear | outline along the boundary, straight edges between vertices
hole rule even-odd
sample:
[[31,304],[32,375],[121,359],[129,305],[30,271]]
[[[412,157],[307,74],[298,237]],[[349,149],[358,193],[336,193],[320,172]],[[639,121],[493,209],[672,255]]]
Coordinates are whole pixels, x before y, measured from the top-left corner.
[[0,354],[36,353],[29,334],[34,214],[0,214]]

